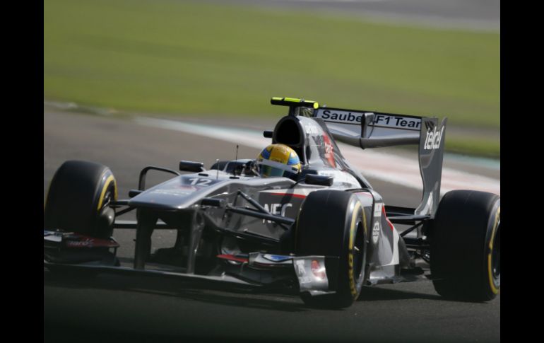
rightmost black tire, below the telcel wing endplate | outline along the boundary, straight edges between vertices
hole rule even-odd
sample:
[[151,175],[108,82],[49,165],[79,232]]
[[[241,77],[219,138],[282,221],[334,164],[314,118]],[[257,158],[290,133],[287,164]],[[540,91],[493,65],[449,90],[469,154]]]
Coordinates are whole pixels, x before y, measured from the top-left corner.
[[500,289],[500,197],[447,192],[430,233],[434,289],[444,298],[490,301]]

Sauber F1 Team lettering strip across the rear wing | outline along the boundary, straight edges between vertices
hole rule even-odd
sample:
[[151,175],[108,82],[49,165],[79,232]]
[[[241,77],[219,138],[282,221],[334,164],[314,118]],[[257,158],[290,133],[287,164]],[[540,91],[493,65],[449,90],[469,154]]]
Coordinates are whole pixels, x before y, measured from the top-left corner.
[[374,122],[369,126],[386,127],[390,129],[407,129],[419,131],[421,128],[421,118],[405,117],[401,115],[386,115],[374,112],[355,112],[333,109],[319,109],[316,117],[322,118],[325,122],[337,122],[339,124],[360,125],[362,116],[365,113],[374,114]]

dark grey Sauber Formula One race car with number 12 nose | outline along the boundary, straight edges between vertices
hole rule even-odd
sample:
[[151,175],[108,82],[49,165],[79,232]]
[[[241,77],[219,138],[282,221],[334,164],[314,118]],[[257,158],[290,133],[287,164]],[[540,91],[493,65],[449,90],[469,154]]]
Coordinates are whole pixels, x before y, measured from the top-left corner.
[[[148,166],[118,199],[109,168],[67,161],[44,215],[44,266],[190,277],[300,292],[323,308],[353,304],[362,286],[432,279],[447,298],[489,301],[500,288],[500,198],[454,190],[440,199],[446,119],[272,98],[289,108],[259,158],[177,170]],[[386,205],[350,166],[336,140],[361,149],[418,144],[417,208]],[[283,157],[279,156],[287,152]],[[274,155],[278,155],[274,157]],[[149,170],[174,178],[146,189]],[[119,216],[136,210],[136,221]],[[399,233],[394,224],[410,226]],[[134,260],[121,264],[118,229],[136,229]],[[173,229],[172,248],[152,252],[154,230]],[[416,263],[417,262],[417,263]]]

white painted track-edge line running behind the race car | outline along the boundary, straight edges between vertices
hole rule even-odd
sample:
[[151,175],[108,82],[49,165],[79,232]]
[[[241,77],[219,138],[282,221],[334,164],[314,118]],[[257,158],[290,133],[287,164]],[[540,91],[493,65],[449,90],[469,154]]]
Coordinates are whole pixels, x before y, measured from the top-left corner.
[[[270,139],[264,138],[262,132],[232,127],[216,127],[208,124],[193,124],[162,120],[148,117],[136,117],[138,124],[170,129],[188,134],[198,134],[222,141],[230,141],[256,149],[263,149],[270,144]],[[350,163],[361,170],[361,173],[370,178],[376,178],[397,185],[403,185],[415,190],[422,190],[422,181],[418,159],[406,158],[391,153],[381,153],[364,150],[355,146],[338,144],[342,154]],[[442,168],[442,194],[450,190],[481,190],[500,195],[500,180],[483,175],[466,173],[452,168]]]

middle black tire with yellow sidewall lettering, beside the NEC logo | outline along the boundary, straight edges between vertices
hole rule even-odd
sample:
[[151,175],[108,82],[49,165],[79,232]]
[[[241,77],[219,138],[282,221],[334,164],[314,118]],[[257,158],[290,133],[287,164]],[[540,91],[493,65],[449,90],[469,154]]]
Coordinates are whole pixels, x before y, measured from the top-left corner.
[[345,308],[359,297],[365,281],[367,228],[364,208],[350,192],[322,190],[304,200],[295,226],[297,255],[338,256],[336,275],[327,270],[329,286],[336,293],[312,296],[302,301],[317,308]]

